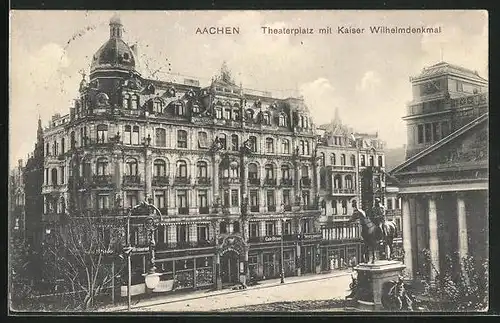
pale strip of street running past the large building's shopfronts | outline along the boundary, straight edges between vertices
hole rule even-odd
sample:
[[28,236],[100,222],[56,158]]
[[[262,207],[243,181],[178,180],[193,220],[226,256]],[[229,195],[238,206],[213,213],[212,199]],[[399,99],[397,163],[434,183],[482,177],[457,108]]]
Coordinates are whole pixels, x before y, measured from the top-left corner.
[[[327,274],[286,277],[260,281],[244,290],[193,291],[182,295],[164,295],[134,303],[133,312],[218,312],[244,311],[245,306],[274,302],[314,301],[344,298],[349,294],[351,270]],[[127,311],[127,306],[103,308],[103,312]]]

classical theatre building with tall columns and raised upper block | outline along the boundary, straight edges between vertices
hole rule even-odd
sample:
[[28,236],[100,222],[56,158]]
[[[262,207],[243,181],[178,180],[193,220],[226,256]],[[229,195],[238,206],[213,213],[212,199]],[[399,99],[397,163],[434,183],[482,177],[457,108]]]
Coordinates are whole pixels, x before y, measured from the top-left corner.
[[[434,279],[465,256],[488,257],[488,82],[444,62],[411,82],[407,160],[391,173],[402,198],[405,265],[413,278]],[[436,270],[423,267],[424,249]]]

